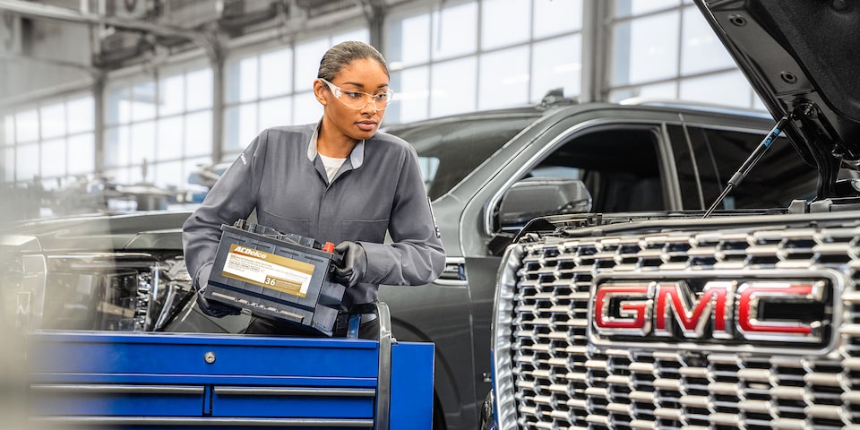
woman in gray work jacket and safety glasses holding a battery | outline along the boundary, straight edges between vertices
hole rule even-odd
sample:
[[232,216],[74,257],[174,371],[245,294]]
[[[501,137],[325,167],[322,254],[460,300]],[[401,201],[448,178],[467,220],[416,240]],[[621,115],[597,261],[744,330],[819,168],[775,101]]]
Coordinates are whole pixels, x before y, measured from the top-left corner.
[[[247,219],[254,209],[262,226],[338,244],[343,264],[332,276],[347,287],[341,313],[363,314],[359,337],[374,338],[378,330],[366,308],[380,284],[422,285],[439,276],[444,251],[415,150],[377,133],[393,95],[389,79],[374,47],[354,41],[331,47],[314,81],[320,122],[264,130],[219,178],[183,226],[185,262],[203,312],[238,313],[207,301],[202,289],[220,226]],[[335,336],[345,334],[346,321],[339,317]],[[257,315],[245,332],[303,334]]]

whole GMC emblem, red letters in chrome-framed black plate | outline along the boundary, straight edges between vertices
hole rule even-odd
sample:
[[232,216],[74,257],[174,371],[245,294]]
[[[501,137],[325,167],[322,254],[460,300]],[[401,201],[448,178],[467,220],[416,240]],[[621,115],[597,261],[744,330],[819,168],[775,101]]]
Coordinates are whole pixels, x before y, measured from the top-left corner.
[[818,273],[598,277],[590,307],[592,339],[822,348],[832,338],[836,295],[830,273]]

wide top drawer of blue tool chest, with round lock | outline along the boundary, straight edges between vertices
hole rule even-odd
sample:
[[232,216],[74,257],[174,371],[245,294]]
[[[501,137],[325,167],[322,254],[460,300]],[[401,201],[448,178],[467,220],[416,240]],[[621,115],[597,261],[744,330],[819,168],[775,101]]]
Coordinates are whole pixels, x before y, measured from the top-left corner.
[[28,336],[28,343],[31,372],[71,379],[85,374],[165,381],[197,376],[373,379],[379,373],[374,340],[39,331]]

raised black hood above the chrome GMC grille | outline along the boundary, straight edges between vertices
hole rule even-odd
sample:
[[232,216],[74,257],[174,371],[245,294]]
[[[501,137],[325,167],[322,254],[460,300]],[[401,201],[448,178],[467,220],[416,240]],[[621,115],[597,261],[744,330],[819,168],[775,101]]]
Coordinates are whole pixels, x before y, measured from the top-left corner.
[[695,0],[788,137],[820,172],[818,200],[860,167],[860,4]]

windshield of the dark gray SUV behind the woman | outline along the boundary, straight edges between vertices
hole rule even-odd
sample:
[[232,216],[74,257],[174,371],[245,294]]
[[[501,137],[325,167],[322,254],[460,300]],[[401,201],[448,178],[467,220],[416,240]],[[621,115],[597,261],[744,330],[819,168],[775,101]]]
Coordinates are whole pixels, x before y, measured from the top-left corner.
[[460,184],[537,119],[537,115],[473,116],[456,121],[398,125],[386,132],[415,147],[427,195],[435,200]]

